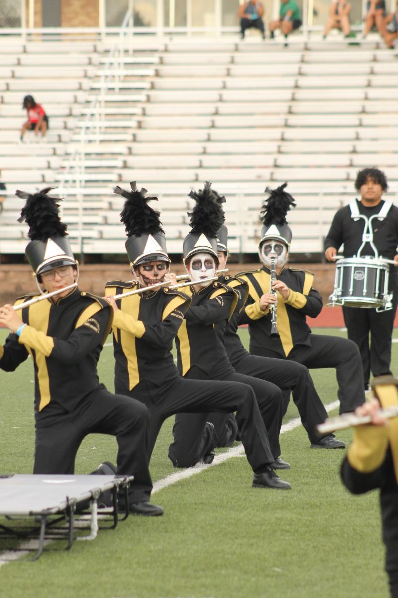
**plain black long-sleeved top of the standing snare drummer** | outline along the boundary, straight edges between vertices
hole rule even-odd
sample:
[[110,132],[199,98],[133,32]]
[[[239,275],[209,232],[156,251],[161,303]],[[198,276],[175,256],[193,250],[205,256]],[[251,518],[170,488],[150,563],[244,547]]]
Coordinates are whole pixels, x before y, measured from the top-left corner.
[[[366,208],[362,202],[357,200],[359,213],[370,218],[374,214],[378,214],[384,205],[384,201],[374,206],[373,208]],[[344,243],[344,256],[353,257],[358,252],[362,244],[362,233],[365,222],[362,218],[354,220],[351,218],[350,206],[344,206],[335,213],[328,236],[325,239],[325,249],[335,247],[339,249]],[[388,260],[392,260],[396,255],[398,245],[398,208],[391,206],[388,210],[387,216],[383,220],[374,218],[371,222],[373,230],[373,242],[377,248],[378,254]],[[361,255],[374,255],[374,251],[369,245],[365,243],[361,251]],[[391,273],[396,273],[396,268],[391,267]]]

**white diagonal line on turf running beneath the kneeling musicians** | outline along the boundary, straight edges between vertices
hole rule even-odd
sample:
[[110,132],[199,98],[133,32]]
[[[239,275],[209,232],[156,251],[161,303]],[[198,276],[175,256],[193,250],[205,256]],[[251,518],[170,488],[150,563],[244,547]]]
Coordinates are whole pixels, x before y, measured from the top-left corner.
[[[110,343],[113,346],[113,343]],[[105,345],[106,346],[106,345]],[[325,405],[326,411],[332,411],[333,409],[335,409],[336,407],[338,407],[339,405],[339,401],[333,401],[332,403],[329,403],[328,405]],[[289,432],[290,430],[293,430],[294,428],[298,428],[298,426],[301,425],[301,419],[300,417],[295,417],[294,419],[291,419],[289,422],[284,423],[282,425],[282,427],[280,428],[280,434],[284,434],[285,432]],[[164,480],[159,480],[157,482],[155,482],[155,484],[153,484],[153,490],[152,490],[152,494],[155,494],[155,492],[159,492],[159,490],[163,490],[163,488],[167,488],[168,486],[172,486],[172,484],[176,484],[177,482],[179,482],[180,480],[186,480],[187,478],[190,478],[192,475],[195,474],[200,474],[200,472],[204,471],[206,469],[206,471],[208,470],[209,467],[215,467],[216,465],[220,465],[220,463],[224,463],[224,461],[227,461],[229,459],[232,459],[233,457],[240,457],[243,453],[244,453],[244,449],[243,449],[243,445],[242,443],[239,443],[236,447],[233,447],[232,449],[228,449],[226,451],[226,453],[221,453],[218,454],[215,458],[214,461],[211,463],[211,465],[195,465],[195,467],[190,467],[189,469],[184,469],[184,471],[180,471],[176,474],[171,474],[168,475],[166,478],[164,478]],[[51,542],[51,540],[45,540],[45,544],[47,545],[49,542]],[[24,542],[23,544],[21,544],[21,549],[23,550],[24,548],[30,548],[31,546],[36,546],[37,545],[37,540],[32,539],[29,540],[29,542]],[[24,556],[25,554],[29,554],[27,551],[9,551],[7,553],[0,553],[0,568],[3,565],[7,565],[7,563],[9,563],[10,561],[13,560],[17,560],[19,559],[21,556]]]

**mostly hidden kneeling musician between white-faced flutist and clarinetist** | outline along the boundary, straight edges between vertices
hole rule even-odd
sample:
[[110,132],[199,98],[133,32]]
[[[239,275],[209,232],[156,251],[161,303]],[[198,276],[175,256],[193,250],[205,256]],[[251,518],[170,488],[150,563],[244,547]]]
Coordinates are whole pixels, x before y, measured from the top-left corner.
[[[218,231],[217,243],[220,269],[224,269],[228,258],[228,230],[225,225]],[[321,440],[319,434],[315,433],[315,426],[325,420],[326,410],[316,392],[308,369],[304,365],[293,361],[281,361],[280,359],[250,355],[243,347],[239,334],[237,334],[237,328],[240,313],[246,303],[249,283],[229,274],[225,276],[221,274],[220,281],[232,286],[239,294],[237,309],[227,325],[224,336],[227,355],[233,368],[239,374],[266,380],[288,392],[292,390],[294,403],[300,413],[301,421],[307,430],[311,444],[320,448],[335,448],[339,444],[341,445],[341,441],[331,434],[325,435]],[[286,411],[286,408],[284,411]],[[208,419],[214,423],[217,434],[220,434],[220,428],[225,429],[229,423],[220,421],[220,414],[211,414]]]

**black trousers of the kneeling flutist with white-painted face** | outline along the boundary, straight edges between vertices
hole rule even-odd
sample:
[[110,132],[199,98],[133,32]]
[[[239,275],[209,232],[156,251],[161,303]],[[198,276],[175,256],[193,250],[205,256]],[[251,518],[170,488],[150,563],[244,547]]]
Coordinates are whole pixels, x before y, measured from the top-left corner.
[[[192,367],[187,372],[185,379],[189,380],[209,380],[209,375],[200,368]],[[223,382],[229,388],[239,389],[242,392],[245,389],[246,396],[250,401],[254,398],[256,405],[255,417],[256,425],[264,431],[267,439],[267,463],[273,462],[275,457],[280,455],[279,429],[282,422],[282,392],[277,386],[238,374],[232,366],[217,369],[211,374],[211,384],[215,380],[226,380]],[[245,399],[246,400],[246,399]],[[198,410],[196,410],[198,411]],[[192,467],[200,459],[199,447],[203,444],[203,434],[207,421],[212,421],[217,428],[223,431],[226,417],[218,417],[211,407],[207,412],[202,413],[177,413],[173,426],[174,441],[169,446],[169,458],[172,463],[178,463],[182,467]],[[230,409],[229,411],[235,411]],[[242,435],[242,420],[239,413],[236,413],[236,422],[239,429],[240,440],[245,445]],[[181,465],[182,464],[182,465]]]

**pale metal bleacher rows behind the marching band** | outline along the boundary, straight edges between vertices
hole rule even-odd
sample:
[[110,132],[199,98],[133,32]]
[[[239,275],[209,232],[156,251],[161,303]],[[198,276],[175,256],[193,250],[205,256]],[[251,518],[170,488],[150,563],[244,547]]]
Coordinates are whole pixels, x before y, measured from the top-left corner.
[[[391,199],[398,188],[397,77],[397,52],[371,36],[354,45],[297,36],[288,48],[278,39],[134,38],[116,53],[106,41],[9,44],[0,57],[0,253],[26,245],[16,188],[45,186],[66,197],[75,251],[123,253],[112,189],[134,180],[159,197],[171,253],[189,230],[187,194],[212,181],[239,254],[256,251],[264,188],[288,181],[291,250],[319,254],[357,170],[384,170]],[[50,115],[46,143],[32,134],[17,143],[25,93]]]

